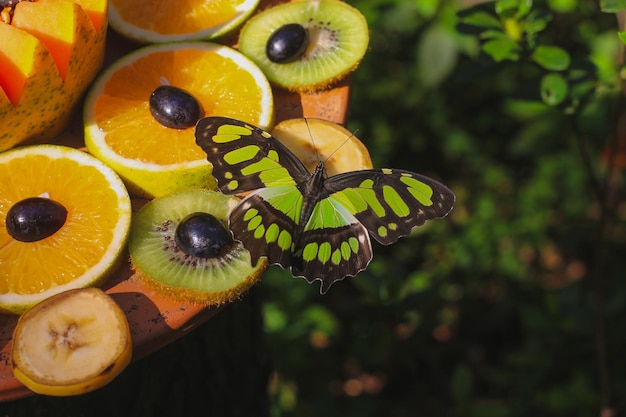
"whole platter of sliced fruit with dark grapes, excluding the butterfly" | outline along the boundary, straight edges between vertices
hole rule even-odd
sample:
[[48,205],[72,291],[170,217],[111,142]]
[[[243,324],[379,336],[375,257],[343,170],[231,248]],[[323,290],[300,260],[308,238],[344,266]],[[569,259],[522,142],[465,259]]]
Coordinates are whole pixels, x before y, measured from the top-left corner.
[[[72,24],[61,28],[57,40],[64,39],[68,48],[63,42],[42,41],[42,45],[36,39],[45,32],[41,27],[46,25],[47,11],[27,10],[31,7],[25,2],[0,1],[0,38],[11,36],[15,41],[10,48],[0,42],[0,64],[13,69],[11,77],[0,74],[0,92],[4,91],[0,94],[0,135],[4,135],[0,136],[0,217],[6,224],[6,231],[0,232],[0,287],[6,286],[0,288],[4,311],[0,314],[0,401],[32,392],[75,395],[95,389],[121,372],[131,356],[141,358],[181,337],[259,278],[265,264],[251,265],[247,251],[232,242],[223,228],[228,207],[238,197],[212,191],[216,185],[211,165],[194,141],[198,118],[220,115],[268,130],[276,125],[273,134],[293,142],[287,146],[296,154],[299,148],[302,158],[316,151],[308,143],[303,146],[298,137],[316,129],[321,129],[320,136],[332,136],[333,129],[345,122],[350,84],[346,75],[356,67],[368,42],[365,20],[360,14],[356,20],[350,17],[350,6],[337,0],[300,0],[298,6],[277,13],[274,7],[279,3],[291,2],[224,1],[227,11],[219,13],[231,13],[227,21],[205,16],[213,27],[199,28],[189,22],[191,29],[185,34],[168,22],[138,28],[137,11],[141,11],[139,21],[163,15],[167,21],[182,20],[173,17],[173,10],[160,10],[147,19],[144,5],[138,3],[142,2],[111,0],[108,23],[116,31],[108,32],[106,0],[32,3],[67,9],[63,13],[72,16]],[[335,8],[347,8],[349,18],[333,28],[329,18],[315,14],[320,13],[320,3],[327,3],[333,18],[345,14]],[[60,7],[53,9],[62,13]],[[239,25],[244,27],[241,37],[235,30]],[[259,35],[261,28],[265,29]],[[338,35],[339,30],[345,36]],[[44,35],[42,39],[50,39]],[[259,36],[268,39],[259,43]],[[344,43],[352,46],[345,48]],[[238,51],[242,44],[247,55]],[[16,49],[27,46],[30,49]],[[33,59],[11,61],[12,55],[23,56],[24,50]],[[337,50],[348,51],[340,64],[312,64]],[[285,72],[282,66],[291,69]],[[60,79],[56,71],[62,74]],[[191,110],[185,117],[173,115],[171,102],[179,103],[178,107],[191,103]],[[59,113],[51,116],[53,111]],[[306,128],[292,121],[302,117],[320,121]],[[154,137],[152,145],[139,140],[146,135]],[[345,130],[340,135],[350,136]],[[22,146],[33,143],[45,144]],[[328,146],[334,150],[336,144]],[[351,160],[349,169],[371,167],[367,149],[357,140],[341,152],[346,156],[335,159]],[[327,167],[332,170],[333,164]],[[198,216],[204,211],[209,212],[208,218]],[[29,216],[46,219],[38,220],[35,230]],[[192,232],[179,233],[181,225]],[[214,240],[224,243],[206,255],[206,248],[194,246],[193,231],[198,229],[209,230]],[[50,242],[62,251],[55,254]],[[161,252],[163,247],[172,248],[165,264],[189,261],[179,247],[205,251],[200,258],[228,257],[228,261],[220,258],[202,265],[219,269],[226,263],[243,278],[233,280],[233,274],[224,274],[216,280],[222,284],[210,288],[207,300],[206,288],[195,289],[197,277],[188,274],[187,290],[180,291],[167,278],[159,279],[168,265],[155,260],[152,246]],[[80,279],[72,278],[73,269],[83,268],[76,259],[89,259],[86,262],[94,265],[88,273],[79,273]],[[235,262],[241,266],[232,266]],[[156,272],[151,272],[154,265]],[[15,275],[32,277],[25,280],[33,281],[27,283],[32,288],[12,287]],[[66,275],[69,283],[59,284]],[[103,342],[94,336],[100,333],[110,338]],[[93,345],[100,357],[108,359],[85,366],[72,356],[75,343]],[[98,351],[103,345],[108,348]],[[55,369],[58,362],[49,360],[59,356],[81,375],[72,376],[70,365],[61,372],[67,381],[41,375]]]

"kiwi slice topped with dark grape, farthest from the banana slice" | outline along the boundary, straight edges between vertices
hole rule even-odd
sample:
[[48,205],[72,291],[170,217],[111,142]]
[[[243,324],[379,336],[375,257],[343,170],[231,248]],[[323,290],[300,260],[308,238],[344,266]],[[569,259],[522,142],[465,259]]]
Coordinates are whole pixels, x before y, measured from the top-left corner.
[[239,50],[271,82],[309,92],[353,71],[368,43],[365,17],[338,0],[294,1],[266,9],[239,36]]

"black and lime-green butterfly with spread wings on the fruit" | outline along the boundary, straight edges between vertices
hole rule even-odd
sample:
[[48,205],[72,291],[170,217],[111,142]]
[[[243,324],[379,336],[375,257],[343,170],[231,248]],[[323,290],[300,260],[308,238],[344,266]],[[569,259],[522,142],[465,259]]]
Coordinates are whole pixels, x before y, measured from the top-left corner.
[[250,252],[290,269],[325,293],[372,259],[370,236],[389,245],[426,220],[445,217],[455,196],[446,186],[400,169],[366,169],[326,177],[310,173],[270,133],[225,118],[200,119],[196,143],[225,194],[251,191],[231,211],[233,237]]

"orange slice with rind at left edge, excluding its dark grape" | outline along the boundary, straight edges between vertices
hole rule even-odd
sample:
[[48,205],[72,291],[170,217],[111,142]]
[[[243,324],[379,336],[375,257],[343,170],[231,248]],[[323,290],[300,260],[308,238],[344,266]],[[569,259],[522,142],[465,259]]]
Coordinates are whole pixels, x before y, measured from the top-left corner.
[[[21,314],[73,288],[98,285],[121,260],[131,206],[120,178],[93,156],[36,145],[0,153],[0,311]],[[61,228],[33,242],[5,225],[9,210],[30,197],[67,210]]]

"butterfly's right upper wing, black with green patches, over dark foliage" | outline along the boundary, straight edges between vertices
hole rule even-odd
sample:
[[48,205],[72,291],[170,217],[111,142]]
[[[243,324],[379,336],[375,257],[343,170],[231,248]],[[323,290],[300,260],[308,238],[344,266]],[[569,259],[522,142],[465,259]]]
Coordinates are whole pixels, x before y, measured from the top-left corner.
[[455,201],[445,185],[399,169],[335,175],[324,182],[324,188],[383,245],[396,242],[427,220],[445,217]]

